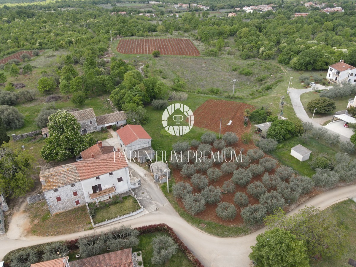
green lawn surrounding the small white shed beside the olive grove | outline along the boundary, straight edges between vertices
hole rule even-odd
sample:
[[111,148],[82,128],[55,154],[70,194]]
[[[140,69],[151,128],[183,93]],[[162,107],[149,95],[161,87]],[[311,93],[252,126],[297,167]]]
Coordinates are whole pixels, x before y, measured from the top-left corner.
[[[307,161],[300,162],[298,159],[290,155],[290,149],[298,144],[307,147],[312,151],[310,158]],[[341,152],[339,147],[329,147],[321,143],[319,140],[310,138],[306,143],[300,137],[293,137],[288,141],[279,143],[277,149],[271,152],[271,155],[277,158],[284,165],[292,167],[300,175],[312,177],[315,171],[310,168],[309,162],[312,161],[313,156],[317,156],[320,153],[326,153],[330,156],[334,156],[336,153]]]

